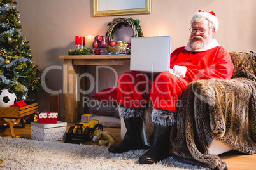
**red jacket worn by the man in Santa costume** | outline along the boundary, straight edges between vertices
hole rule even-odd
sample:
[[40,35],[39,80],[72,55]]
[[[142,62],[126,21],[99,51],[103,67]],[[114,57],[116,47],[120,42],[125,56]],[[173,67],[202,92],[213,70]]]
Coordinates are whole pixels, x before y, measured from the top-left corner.
[[228,51],[222,46],[215,46],[205,51],[189,51],[187,47],[177,48],[171,53],[171,65],[187,67],[185,80],[231,79],[234,65]]

